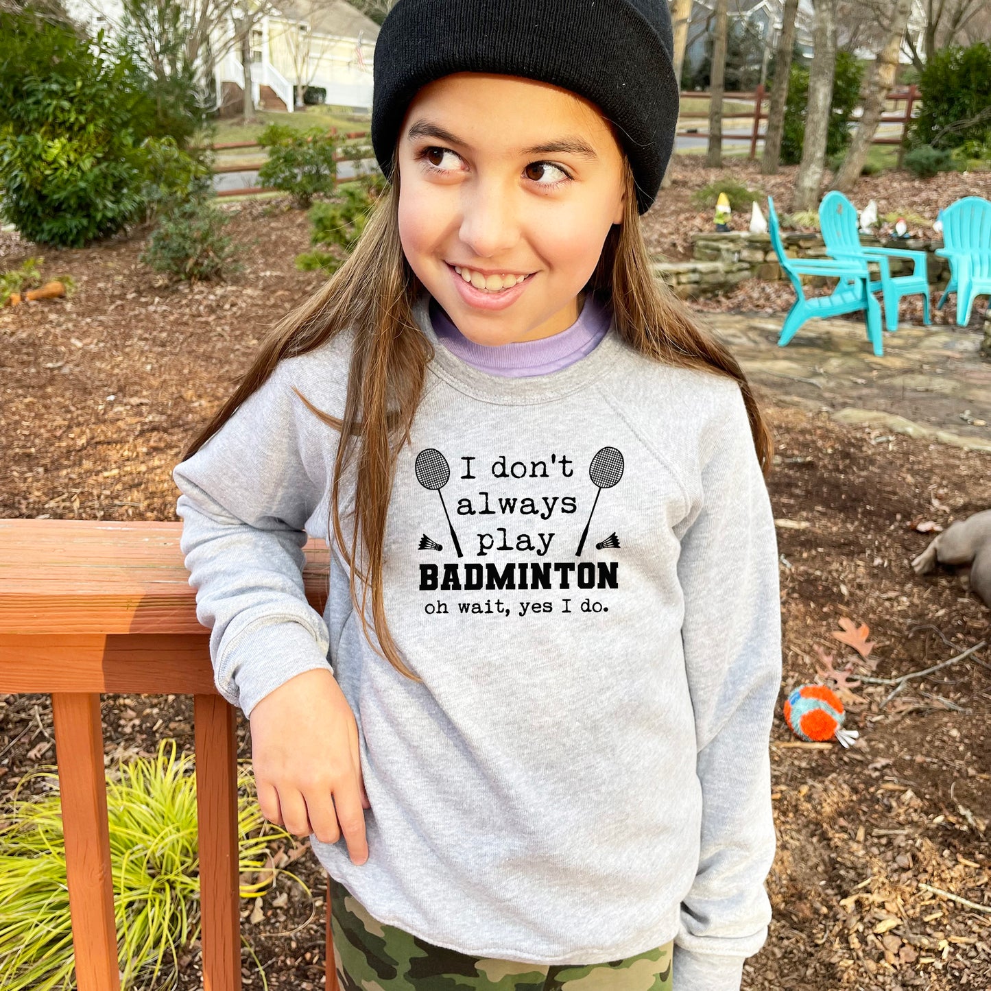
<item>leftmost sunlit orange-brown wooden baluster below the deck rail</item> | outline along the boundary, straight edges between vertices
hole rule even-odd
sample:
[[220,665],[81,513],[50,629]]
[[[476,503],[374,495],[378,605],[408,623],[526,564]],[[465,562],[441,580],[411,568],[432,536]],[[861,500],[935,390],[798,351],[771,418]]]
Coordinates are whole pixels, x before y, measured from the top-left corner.
[[100,696],[53,692],[52,717],[76,987],[120,991]]

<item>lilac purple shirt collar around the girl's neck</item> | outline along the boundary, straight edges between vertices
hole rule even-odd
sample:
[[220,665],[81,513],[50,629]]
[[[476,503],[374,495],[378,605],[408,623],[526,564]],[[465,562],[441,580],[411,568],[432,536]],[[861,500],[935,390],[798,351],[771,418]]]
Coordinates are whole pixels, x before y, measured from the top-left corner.
[[430,299],[434,331],[449,351],[483,372],[512,379],[547,375],[584,358],[606,335],[611,317],[608,305],[589,292],[578,319],[566,330],[535,341],[486,345],[465,337],[437,300]]

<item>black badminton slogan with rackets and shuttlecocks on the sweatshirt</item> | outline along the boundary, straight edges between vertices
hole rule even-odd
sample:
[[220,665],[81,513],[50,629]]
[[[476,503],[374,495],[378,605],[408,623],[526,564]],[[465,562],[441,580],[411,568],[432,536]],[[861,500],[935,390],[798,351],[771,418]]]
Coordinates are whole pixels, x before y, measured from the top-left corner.
[[[416,456],[416,480],[426,490],[437,493],[437,520],[430,533],[422,533],[418,551],[436,553],[443,560],[419,561],[419,590],[433,593],[424,605],[431,613],[498,613],[524,616],[535,612],[607,612],[604,599],[582,593],[612,590],[619,587],[619,561],[582,561],[590,532],[595,534],[596,509],[600,496],[622,480],[623,456],[618,448],[602,447],[588,469],[588,500],[591,508],[585,516],[576,495],[492,495],[480,485],[488,479],[522,483],[575,476],[575,462],[566,455],[552,453],[545,460],[508,462],[500,455],[488,467],[474,455],[462,455],[458,461],[459,481],[472,483],[471,495],[459,495],[448,505],[444,490],[451,481],[451,464],[434,447],[423,448]],[[448,490],[449,498],[450,489]],[[602,514],[600,514],[602,515]],[[579,530],[585,516],[584,528]],[[493,517],[488,519],[487,517]],[[509,517],[504,519],[504,517]],[[519,530],[519,521],[530,517],[541,525],[553,520],[546,529]],[[480,518],[485,526],[480,526]],[[510,525],[505,525],[509,523]],[[502,525],[500,525],[502,524]],[[512,525],[515,524],[515,525]],[[510,536],[510,530],[512,535]],[[598,551],[611,552],[620,547],[614,530],[595,543]],[[464,549],[463,549],[464,548]],[[495,552],[512,552],[513,560],[495,563],[486,560]],[[525,559],[521,559],[525,556]],[[471,560],[473,559],[474,560]],[[455,560],[456,559],[456,560]],[[573,592],[557,602],[539,599],[541,591]],[[464,593],[527,593],[525,596],[499,595],[484,599]],[[456,593],[461,595],[449,595]]]

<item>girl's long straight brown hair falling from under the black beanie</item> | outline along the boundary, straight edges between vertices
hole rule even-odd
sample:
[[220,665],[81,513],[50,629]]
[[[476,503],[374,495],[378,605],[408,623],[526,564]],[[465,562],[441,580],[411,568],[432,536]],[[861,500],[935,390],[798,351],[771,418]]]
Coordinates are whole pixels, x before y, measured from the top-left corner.
[[[371,590],[373,624],[385,651],[380,655],[397,671],[419,681],[402,663],[385,622],[383,603],[385,516],[395,461],[409,438],[427,365],[433,357],[432,345],[412,317],[412,303],[422,283],[402,253],[397,222],[397,168],[392,176],[350,258],[322,289],[275,324],[234,394],[191,441],[182,460],[195,454],[223,426],[238,406],[266,382],[279,361],[306,354],[342,330],[354,327],[343,417],[318,409],[302,393],[294,391],[316,416],[342,436],[328,511],[337,545],[350,569],[351,601],[361,616],[365,635],[369,635],[365,605]],[[633,173],[625,156],[623,182],[625,215],[621,224],[609,230],[599,264],[586,288],[611,301],[616,332],[640,354],[669,365],[724,375],[739,383],[757,457],[767,478],[773,439],[739,364],[696,324],[688,308],[651,272],[636,208]],[[363,413],[361,422],[359,409]],[[351,443],[353,437],[360,441]],[[339,483],[353,453],[357,457],[355,514],[351,548],[347,550],[341,530]],[[359,553],[368,561],[365,570],[357,563]],[[356,577],[362,583],[360,604]]]

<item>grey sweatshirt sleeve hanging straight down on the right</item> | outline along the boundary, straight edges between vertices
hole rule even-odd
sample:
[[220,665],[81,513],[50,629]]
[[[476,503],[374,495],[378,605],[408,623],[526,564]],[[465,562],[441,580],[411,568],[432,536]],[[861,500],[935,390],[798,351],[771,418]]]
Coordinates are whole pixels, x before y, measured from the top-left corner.
[[[703,811],[699,869],[681,905],[674,991],[738,991],[767,938],[774,859],[770,732],[781,685],[774,518],[733,389],[702,469],[702,507],[682,536],[685,664]],[[725,408],[725,407],[723,407]]]

